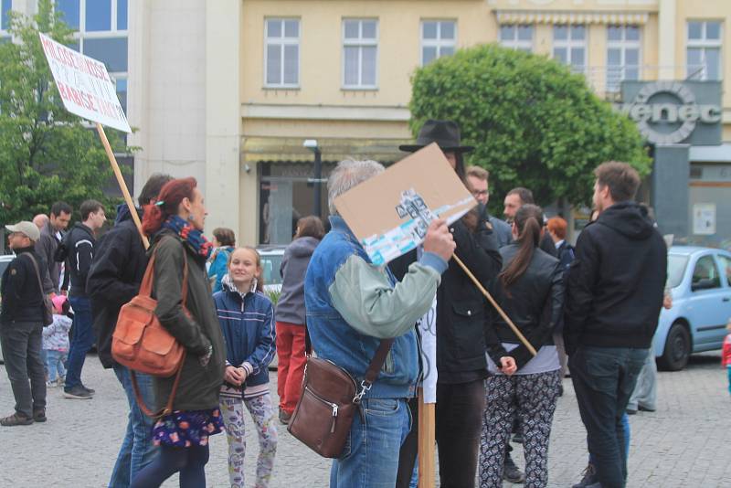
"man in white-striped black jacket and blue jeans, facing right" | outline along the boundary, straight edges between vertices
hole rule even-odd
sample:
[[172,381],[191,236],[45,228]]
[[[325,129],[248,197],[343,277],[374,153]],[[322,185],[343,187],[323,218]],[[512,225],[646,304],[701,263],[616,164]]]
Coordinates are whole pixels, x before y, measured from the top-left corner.
[[[86,277],[91,258],[94,255],[95,233],[107,221],[104,207],[96,200],[81,204],[81,222],[74,224],[63,238],[62,252],[57,259],[66,260],[65,270],[69,272],[71,290],[69,302],[74,311],[73,335],[69,345],[69,361],[66,366],[64,398],[89,399],[94,390],[81,383],[81,369],[86,354],[94,345],[94,331],[91,329],[91,306],[86,293]],[[65,254],[65,255],[64,255]]]

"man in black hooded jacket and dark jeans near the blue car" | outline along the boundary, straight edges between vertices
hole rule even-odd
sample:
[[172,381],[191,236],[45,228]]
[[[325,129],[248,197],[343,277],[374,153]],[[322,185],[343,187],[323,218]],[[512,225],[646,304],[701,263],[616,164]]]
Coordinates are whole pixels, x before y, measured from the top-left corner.
[[568,271],[564,340],[596,486],[615,488],[627,479],[621,417],[657,328],[667,249],[632,201],[637,172],[609,162],[594,175],[599,218],[581,232]]

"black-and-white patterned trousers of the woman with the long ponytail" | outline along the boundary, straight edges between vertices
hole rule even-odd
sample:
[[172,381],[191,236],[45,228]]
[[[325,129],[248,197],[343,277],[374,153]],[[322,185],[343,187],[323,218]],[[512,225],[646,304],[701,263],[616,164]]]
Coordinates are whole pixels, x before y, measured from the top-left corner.
[[518,419],[525,452],[525,486],[548,483],[548,437],[556,410],[558,371],[495,375],[485,380],[487,407],[480,438],[480,488],[503,486],[505,449]]

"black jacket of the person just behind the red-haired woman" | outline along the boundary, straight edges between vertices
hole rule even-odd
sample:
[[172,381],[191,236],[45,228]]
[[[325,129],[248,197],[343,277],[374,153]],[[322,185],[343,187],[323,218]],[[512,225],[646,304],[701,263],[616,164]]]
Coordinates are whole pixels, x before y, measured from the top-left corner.
[[[142,218],[142,212],[140,214]],[[86,285],[91,299],[99,359],[104,367],[114,365],[111,334],[122,305],[140,291],[146,267],[147,255],[140,233],[129,208],[121,205],[117,207],[114,227],[97,242]]]

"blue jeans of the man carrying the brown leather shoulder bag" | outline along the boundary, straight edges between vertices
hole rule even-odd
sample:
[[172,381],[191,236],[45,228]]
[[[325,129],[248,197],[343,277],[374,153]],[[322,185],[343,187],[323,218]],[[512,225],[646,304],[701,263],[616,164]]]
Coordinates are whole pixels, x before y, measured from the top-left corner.
[[411,429],[405,398],[366,398],[353,419],[343,455],[333,461],[331,488],[393,488],[398,451]]

